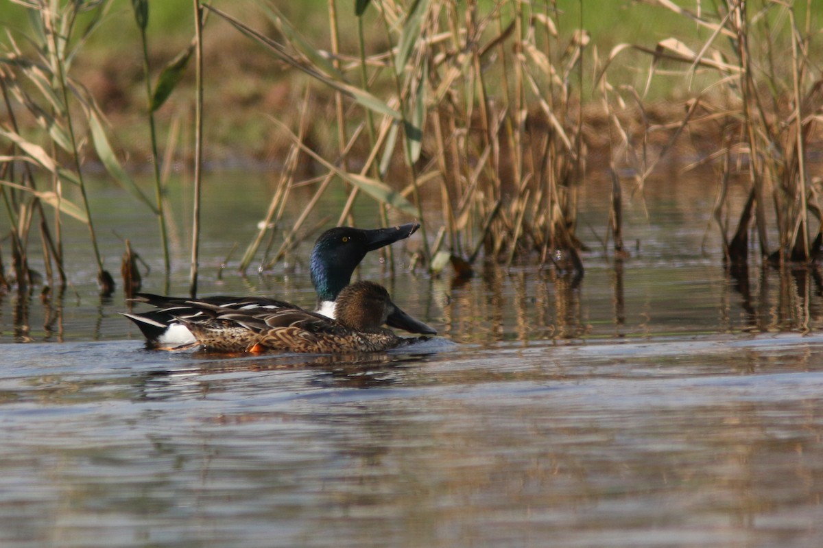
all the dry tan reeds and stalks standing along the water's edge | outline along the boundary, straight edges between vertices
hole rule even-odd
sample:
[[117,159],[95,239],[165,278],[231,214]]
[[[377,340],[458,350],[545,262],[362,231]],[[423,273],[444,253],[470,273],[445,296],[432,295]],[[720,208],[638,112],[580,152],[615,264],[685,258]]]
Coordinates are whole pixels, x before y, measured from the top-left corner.
[[[54,267],[65,282],[63,216],[88,226],[100,280],[105,281],[107,272],[83,182],[81,159],[86,143],[94,147],[112,179],[158,217],[169,271],[152,113],[179,82],[188,58],[196,55],[196,190],[190,278],[190,292],[196,294],[204,8],[321,86],[319,93],[307,88],[294,131],[290,123],[276,121],[277,128],[291,138],[291,149],[261,228],[239,262],[243,271],[261,249],[265,251],[259,268],[266,269],[305,238],[309,213],[337,181],[346,185],[347,192],[338,223],[352,222],[356,201],[365,199],[374,201],[385,224],[392,210],[421,219],[424,238],[417,259],[434,272],[451,262],[465,275],[472,264],[485,258],[507,266],[539,262],[581,276],[576,229],[578,189],[584,183],[588,154],[584,90],[593,90],[608,120],[613,179],[611,196],[603,199],[611,204],[607,230],[616,257],[626,253],[621,223],[623,181],[617,176],[621,168],[631,168],[642,197],[644,184],[663,157],[677,150],[691,128],[708,123],[720,128],[722,144],[695,165],[714,162],[717,166],[714,219],[723,233],[728,260],[746,261],[752,223],[760,255],[774,262],[809,263],[820,253],[823,215],[807,156],[820,119],[823,80],[811,54],[815,27],[808,3],[803,14],[806,26],[800,29],[795,7],[784,2],[723,0],[714,4],[714,13],[693,13],[668,0],[649,0],[646,3],[656,7],[637,9],[676,12],[708,37],[690,44],[685,36],[672,37],[653,47],[620,44],[601,60],[582,21],[570,21],[556,2],[548,0],[356,2],[358,35],[353,53],[342,45],[335,0],[328,3],[331,51],[301,35],[269,2],[262,2],[263,13],[277,39],[195,0],[192,46],[164,68],[152,91],[145,40],[148,4],[135,0],[155,168],[153,202],[142,195],[112,149],[110,130],[94,97],[81,82],[72,81],[67,70],[67,58],[81,49],[110,2],[66,2],[58,10],[48,2],[21,3],[40,16],[40,23],[35,24],[35,49],[23,53],[10,38],[0,57],[0,89],[8,120],[0,127],[5,145],[0,158],[0,199],[9,217],[12,270],[21,286],[30,285],[28,242],[33,226],[40,230],[49,279]],[[579,7],[582,13],[582,0]],[[96,18],[81,35],[73,35],[80,11],[96,11]],[[366,26],[384,38],[367,42]],[[791,62],[776,63],[777,51],[787,52],[785,58]],[[650,60],[642,90],[642,86],[611,84],[611,75],[625,67],[619,63],[629,52],[635,52],[632,59],[639,55]],[[686,102],[686,114],[680,119],[653,123],[646,96],[663,66],[681,67],[687,81],[700,82],[704,89],[695,91]],[[305,119],[309,96],[314,100],[331,97],[334,127],[328,134],[337,146],[315,150],[309,145],[306,137],[313,129]],[[21,129],[17,120],[21,115],[29,127],[37,128],[36,136]],[[90,138],[81,138],[81,128],[88,129]],[[667,136],[662,143],[655,141],[658,132]],[[309,181],[316,187],[308,204],[295,204],[295,193],[291,193],[295,185],[307,183],[296,180],[300,156],[310,156],[324,171]],[[729,238],[732,204],[728,184],[734,166],[745,168],[750,192],[742,211],[736,212],[737,226]],[[43,189],[46,180],[51,184],[49,190]],[[64,196],[64,185],[80,189],[80,204]],[[53,207],[52,217],[44,205]],[[300,211],[297,221],[286,230],[280,226],[284,212],[295,208]],[[775,234],[777,244],[770,241]]]

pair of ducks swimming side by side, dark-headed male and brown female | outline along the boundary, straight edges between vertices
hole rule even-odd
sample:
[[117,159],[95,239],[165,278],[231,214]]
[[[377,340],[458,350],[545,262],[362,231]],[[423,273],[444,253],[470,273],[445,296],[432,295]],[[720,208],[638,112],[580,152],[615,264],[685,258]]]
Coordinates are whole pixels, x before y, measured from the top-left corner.
[[420,227],[326,230],[314,244],[309,271],[318,295],[315,312],[265,297],[217,296],[185,299],[137,294],[151,304],[146,313],[124,313],[140,327],[151,348],[198,346],[225,352],[291,351],[318,354],[385,351],[427,337],[398,337],[384,324],[407,332],[436,331],[394,304],[388,291],[371,281],[349,284],[366,253],[408,238]]

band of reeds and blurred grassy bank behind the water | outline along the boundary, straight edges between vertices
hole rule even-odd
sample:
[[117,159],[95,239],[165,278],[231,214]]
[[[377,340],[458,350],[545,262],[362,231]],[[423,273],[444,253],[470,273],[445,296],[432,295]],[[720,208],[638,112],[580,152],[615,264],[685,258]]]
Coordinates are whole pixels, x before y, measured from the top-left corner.
[[[215,50],[219,42],[210,35],[265,55],[268,61],[249,63],[263,81],[280,73],[275,86],[288,81],[293,97],[290,108],[262,117],[277,136],[280,175],[265,210],[249,213],[261,220],[238,253],[240,272],[281,261],[316,230],[309,219],[324,193],[342,187],[346,199],[326,222],[356,223],[358,201],[374,203],[384,224],[398,215],[419,218],[424,238],[416,261],[432,272],[451,262],[467,276],[486,260],[579,277],[579,189],[592,165],[606,166],[612,179],[602,196],[610,213],[594,233],[619,260],[629,253],[623,189],[642,201],[649,177],[672,161],[716,179],[714,219],[730,264],[761,257],[813,265],[818,258],[821,179],[811,160],[823,94],[814,62],[821,8],[813,2],[626,2],[620,16],[627,27],[653,18],[677,33],[653,41],[628,34],[631,42],[591,15],[613,6],[585,0],[360,1],[354,12],[331,0],[318,6],[328,28],[321,36],[273,2],[234,11],[193,2],[188,16],[202,21],[202,32],[193,23],[178,28],[182,47],[174,55],[165,43],[162,53],[151,53],[156,6],[149,2],[13,4],[29,17],[26,28],[18,19],[7,29],[0,57],[6,286],[31,285],[34,256],[49,286],[65,284],[61,227],[79,222],[88,227],[101,289],[114,289],[84,183],[95,164],[128,189],[135,207],[156,216],[168,274],[164,195],[172,165],[193,165],[199,179],[202,150],[214,134],[208,128],[251,106],[212,103],[210,110],[206,101],[194,109],[204,91],[232,86],[219,65],[203,63],[231,53]],[[135,55],[129,62],[141,67],[134,87],[143,89],[139,110],[150,137],[138,151],[120,145],[130,137],[107,121],[122,117],[111,92],[95,96],[99,83],[82,80],[92,72],[75,70],[86,55],[100,59],[105,48],[93,37],[111,21],[137,33],[133,49],[112,49]],[[255,147],[242,141],[239,147]],[[151,190],[134,183],[132,170],[142,168],[137,154],[150,159]],[[742,205],[728,200],[732,181],[748,188]],[[295,193],[306,187],[309,199]],[[195,293],[201,191],[193,188]],[[284,211],[300,214],[286,226]],[[139,286],[134,253],[150,251],[129,250],[123,258],[128,290]]]

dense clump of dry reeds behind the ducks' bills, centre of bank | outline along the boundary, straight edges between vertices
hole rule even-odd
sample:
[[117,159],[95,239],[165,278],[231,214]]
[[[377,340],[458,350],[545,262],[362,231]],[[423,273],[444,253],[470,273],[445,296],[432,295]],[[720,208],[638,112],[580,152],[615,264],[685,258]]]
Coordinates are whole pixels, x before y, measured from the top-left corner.
[[[368,136],[369,152],[359,174],[340,165],[353,140],[364,137],[349,137],[334,161],[300,145],[329,170],[355,183],[338,222],[346,220],[360,191],[374,191],[379,207],[391,203],[386,197],[393,194],[383,180],[397,148],[409,179],[399,194],[411,197],[414,214],[426,221],[423,255],[428,260],[432,251],[425,226],[431,218],[424,219],[422,208],[428,191],[424,187],[433,181],[439,181],[443,220],[443,228],[435,231],[435,251],[448,242],[450,253],[471,252],[477,258],[477,250],[483,248],[488,258],[510,264],[523,254],[544,250],[550,240],[577,245],[575,185],[583,174],[584,143],[582,107],[570,97],[579,93],[573,89],[575,81],[582,86],[581,59],[588,35],[578,32],[565,49],[552,45],[543,53],[538,44],[546,37],[558,39],[548,11],[539,16],[531,4],[514,0],[491,6],[454,0],[360,2],[356,15],[372,6],[389,45],[384,52],[366,56],[361,40],[359,63],[358,57],[346,58],[337,49],[331,60],[321,55],[273,8],[267,12],[280,31],[278,42],[212,10],[277,58],[328,85],[335,94],[338,118],[338,92],[365,107],[365,122],[355,133]],[[336,5],[330,5],[332,34],[336,13]],[[361,30],[361,19],[358,24]],[[344,58],[350,61],[337,63]],[[388,63],[394,70],[387,74],[383,69]],[[367,67],[377,68],[369,75]],[[346,77],[350,70],[360,71],[359,87]],[[574,71],[577,76],[570,76]],[[551,128],[548,142],[528,128],[528,104],[534,98],[542,101]],[[374,114],[383,120],[373,121]],[[299,223],[307,214],[302,204],[300,208]],[[399,208],[407,211],[402,202]]]

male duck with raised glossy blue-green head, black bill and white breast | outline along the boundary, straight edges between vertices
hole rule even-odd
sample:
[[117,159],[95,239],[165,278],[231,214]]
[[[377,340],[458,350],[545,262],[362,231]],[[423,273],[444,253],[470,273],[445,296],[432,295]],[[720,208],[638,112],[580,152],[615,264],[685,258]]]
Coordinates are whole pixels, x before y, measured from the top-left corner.
[[[382,229],[356,229],[338,226],[323,232],[314,243],[309,259],[309,272],[317,292],[317,312],[334,318],[334,301],[340,291],[351,281],[351,274],[366,253],[405,239],[420,228],[419,223],[407,223]],[[146,344],[156,348],[170,348],[192,344],[195,337],[188,330],[183,318],[197,318],[202,309],[195,309],[184,297],[165,297],[138,293],[133,299],[151,304],[156,310],[144,313],[123,313],[146,337]],[[199,299],[199,303],[224,309],[297,309],[295,305],[265,297],[230,297],[219,295]]]

